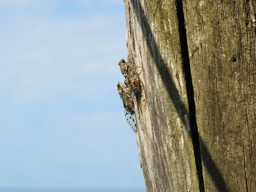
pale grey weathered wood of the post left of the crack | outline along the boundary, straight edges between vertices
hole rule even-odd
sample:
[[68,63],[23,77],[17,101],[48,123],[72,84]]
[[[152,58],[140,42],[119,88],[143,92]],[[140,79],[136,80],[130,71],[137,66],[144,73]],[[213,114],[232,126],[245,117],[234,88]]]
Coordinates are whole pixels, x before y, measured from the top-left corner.
[[[148,192],[199,191],[174,0],[125,0],[128,49],[143,66],[147,104],[136,106]],[[154,35],[153,35],[154,34]],[[138,71],[138,70],[137,70]],[[142,99],[143,100],[143,99]]]

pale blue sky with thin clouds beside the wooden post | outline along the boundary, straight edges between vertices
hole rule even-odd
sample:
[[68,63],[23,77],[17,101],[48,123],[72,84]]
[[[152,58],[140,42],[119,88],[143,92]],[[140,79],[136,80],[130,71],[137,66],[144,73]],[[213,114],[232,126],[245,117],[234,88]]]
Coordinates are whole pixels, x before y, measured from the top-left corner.
[[0,0],[0,186],[144,187],[125,29],[122,0]]

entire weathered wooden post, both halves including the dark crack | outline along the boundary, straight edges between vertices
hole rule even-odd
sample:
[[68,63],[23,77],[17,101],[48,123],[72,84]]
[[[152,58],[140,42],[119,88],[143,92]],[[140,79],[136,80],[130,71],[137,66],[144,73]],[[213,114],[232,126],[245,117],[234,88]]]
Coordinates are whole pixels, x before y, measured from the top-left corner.
[[147,191],[256,191],[255,2],[124,3]]

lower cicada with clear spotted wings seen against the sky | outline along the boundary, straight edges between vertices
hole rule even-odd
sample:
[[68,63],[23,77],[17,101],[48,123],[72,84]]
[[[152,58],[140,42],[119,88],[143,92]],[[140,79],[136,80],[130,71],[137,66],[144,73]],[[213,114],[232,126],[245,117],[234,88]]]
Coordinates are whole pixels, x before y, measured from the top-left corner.
[[136,125],[136,117],[134,113],[134,102],[131,97],[131,92],[125,84],[118,83],[117,90],[120,98],[123,101],[124,111],[125,111],[125,119],[130,125],[131,129],[136,133],[137,125]]

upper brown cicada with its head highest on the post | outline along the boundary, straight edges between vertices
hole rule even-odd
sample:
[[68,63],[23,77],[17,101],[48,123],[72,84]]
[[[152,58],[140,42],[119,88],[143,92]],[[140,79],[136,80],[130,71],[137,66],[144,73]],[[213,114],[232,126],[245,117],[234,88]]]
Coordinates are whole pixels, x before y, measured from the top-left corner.
[[[135,67],[138,67],[138,66],[135,66],[134,64],[132,64],[132,62],[129,59],[127,62],[124,59],[121,59],[118,65],[120,66],[122,75],[125,77],[125,84],[127,85],[127,87],[130,88],[134,94],[142,93],[141,91],[141,87],[142,87],[145,95],[144,84],[140,79],[139,74],[135,70]],[[145,95],[145,103],[146,103],[146,95]]]

